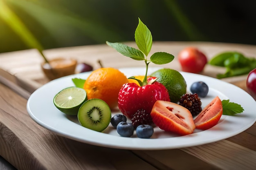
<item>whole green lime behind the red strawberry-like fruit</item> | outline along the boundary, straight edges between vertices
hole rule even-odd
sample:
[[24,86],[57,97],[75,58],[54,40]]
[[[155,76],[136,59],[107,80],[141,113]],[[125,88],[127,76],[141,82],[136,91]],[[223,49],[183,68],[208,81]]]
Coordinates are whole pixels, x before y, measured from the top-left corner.
[[177,103],[180,97],[186,93],[186,81],[180,72],[162,68],[151,74],[158,77],[157,82],[162,83],[168,90],[171,102]]

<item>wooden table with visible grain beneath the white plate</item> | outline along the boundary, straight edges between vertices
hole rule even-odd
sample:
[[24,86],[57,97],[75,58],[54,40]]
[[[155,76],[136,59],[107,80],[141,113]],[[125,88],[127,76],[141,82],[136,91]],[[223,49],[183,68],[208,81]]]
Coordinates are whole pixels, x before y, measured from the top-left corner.
[[[135,43],[127,42],[136,47]],[[163,51],[175,60],[163,67],[180,71],[177,54],[195,46],[207,57],[224,51],[239,51],[255,56],[256,46],[212,42],[154,42],[152,53]],[[144,66],[106,44],[45,50],[47,58],[73,57],[99,68]],[[0,155],[19,170],[148,169],[148,170],[253,170],[256,168],[256,124],[228,139],[202,146],[172,150],[122,150],[93,146],[56,135],[36,124],[26,104],[31,93],[47,83],[40,69],[42,58],[34,50],[0,54]],[[151,64],[150,67],[157,65]],[[225,69],[207,65],[203,75],[216,77]],[[223,79],[243,88],[247,75]]]

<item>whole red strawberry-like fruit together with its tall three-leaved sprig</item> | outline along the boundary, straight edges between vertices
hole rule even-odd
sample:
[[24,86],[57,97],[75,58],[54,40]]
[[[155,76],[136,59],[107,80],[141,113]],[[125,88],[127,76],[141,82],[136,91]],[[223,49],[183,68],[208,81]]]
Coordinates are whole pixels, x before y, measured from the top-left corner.
[[[126,57],[130,57],[134,60],[142,60],[146,64],[146,73],[143,81],[141,82],[137,79],[139,86],[135,83],[127,83],[124,84],[119,91],[118,107],[128,118],[132,118],[132,115],[139,109],[144,109],[146,114],[150,114],[153,105],[157,100],[170,101],[165,86],[159,82],[155,82],[155,77],[149,77],[147,79],[147,72],[148,64],[150,62],[153,62],[154,64],[167,64],[174,59],[173,55],[165,52],[153,53],[150,56],[150,59],[148,58],[153,39],[150,30],[140,19],[135,30],[135,42],[139,49],[118,42],[106,42],[109,46]],[[135,79],[135,77],[130,78]]]

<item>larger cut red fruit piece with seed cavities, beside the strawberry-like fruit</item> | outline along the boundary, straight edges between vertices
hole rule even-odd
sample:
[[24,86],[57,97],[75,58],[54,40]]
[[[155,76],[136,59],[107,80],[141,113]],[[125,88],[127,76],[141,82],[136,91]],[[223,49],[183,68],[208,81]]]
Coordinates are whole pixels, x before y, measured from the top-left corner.
[[160,129],[189,135],[195,130],[190,111],[179,104],[158,100],[150,113],[156,126]]

